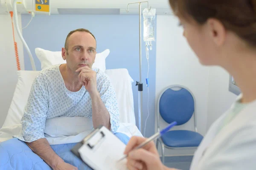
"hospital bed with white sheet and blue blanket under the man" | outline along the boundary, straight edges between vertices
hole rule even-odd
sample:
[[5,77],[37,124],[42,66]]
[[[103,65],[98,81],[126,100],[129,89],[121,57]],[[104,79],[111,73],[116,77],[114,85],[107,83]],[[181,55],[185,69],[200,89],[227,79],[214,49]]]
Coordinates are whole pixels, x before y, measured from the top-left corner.
[[[6,167],[19,169],[19,167],[24,167],[24,164],[27,164],[25,167],[28,169],[49,169],[49,166],[45,164],[40,157],[35,158],[35,156],[32,156],[32,151],[29,150],[26,144],[20,146],[18,150],[13,150],[10,146],[3,146],[4,141],[12,139],[12,136],[17,135],[21,129],[20,119],[23,115],[23,109],[26,105],[32,82],[38,73],[39,71],[17,71],[18,82],[14,96],[6,120],[3,127],[0,129],[0,169],[3,167],[5,167],[4,169],[6,169]],[[116,91],[120,113],[120,127],[117,132],[124,133],[128,137],[142,136],[135,122],[134,100],[131,86],[133,79],[130,77],[128,70],[125,68],[107,69],[105,73],[110,77]],[[81,141],[83,137],[84,136],[80,136],[80,138],[76,138],[75,142]],[[61,158],[64,158],[67,163],[75,161],[79,169],[85,168],[81,161],[79,162],[79,160],[69,152],[73,147],[74,140],[67,142],[70,144],[61,144],[61,142],[63,143],[63,141],[65,141],[63,138],[60,140],[52,140],[53,138],[48,139],[48,141],[51,142],[50,144],[56,144],[52,145],[52,149],[55,150],[58,155],[60,154]]]

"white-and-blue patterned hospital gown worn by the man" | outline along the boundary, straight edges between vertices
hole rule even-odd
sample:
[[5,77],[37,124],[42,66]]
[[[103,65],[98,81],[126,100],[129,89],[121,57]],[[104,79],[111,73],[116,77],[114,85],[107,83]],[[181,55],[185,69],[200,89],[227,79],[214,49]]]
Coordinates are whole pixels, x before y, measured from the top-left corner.
[[[97,73],[97,88],[110,113],[111,131],[115,133],[119,127],[116,93],[105,73],[98,68],[93,71]],[[59,65],[54,65],[42,70],[35,78],[21,119],[22,130],[15,137],[24,142],[44,138],[46,119],[58,116],[92,118],[92,101],[84,86],[77,92],[69,91]]]

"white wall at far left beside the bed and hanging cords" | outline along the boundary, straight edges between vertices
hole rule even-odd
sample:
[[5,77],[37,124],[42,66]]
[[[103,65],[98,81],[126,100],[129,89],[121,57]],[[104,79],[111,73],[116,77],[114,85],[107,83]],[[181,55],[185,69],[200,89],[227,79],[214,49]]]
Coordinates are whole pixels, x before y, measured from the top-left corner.
[[[19,26],[21,17],[18,15]],[[12,36],[12,20],[8,14],[0,14],[0,127],[6,119],[17,83],[17,65]],[[15,27],[14,27],[15,29]],[[22,31],[22,30],[21,30]],[[15,29],[21,69],[24,69],[23,45]]]

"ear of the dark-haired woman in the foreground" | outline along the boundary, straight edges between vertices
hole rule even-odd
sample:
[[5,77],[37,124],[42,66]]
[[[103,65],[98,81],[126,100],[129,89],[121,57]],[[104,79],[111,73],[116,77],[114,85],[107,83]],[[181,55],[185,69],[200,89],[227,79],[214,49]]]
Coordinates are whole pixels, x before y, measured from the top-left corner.
[[208,19],[206,25],[210,38],[213,40],[215,45],[222,46],[227,36],[227,31],[224,25],[219,20],[213,18]]

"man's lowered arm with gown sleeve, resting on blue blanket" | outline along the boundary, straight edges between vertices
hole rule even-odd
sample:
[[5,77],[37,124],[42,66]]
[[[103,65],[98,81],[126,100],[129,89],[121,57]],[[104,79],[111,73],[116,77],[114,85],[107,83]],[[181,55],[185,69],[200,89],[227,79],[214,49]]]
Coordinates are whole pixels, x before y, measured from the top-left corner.
[[77,170],[64,162],[44,138],[44,127],[48,109],[48,90],[44,76],[40,74],[33,82],[24,114],[22,130],[18,139],[26,142],[30,149],[40,156],[53,170]]

